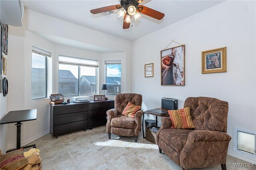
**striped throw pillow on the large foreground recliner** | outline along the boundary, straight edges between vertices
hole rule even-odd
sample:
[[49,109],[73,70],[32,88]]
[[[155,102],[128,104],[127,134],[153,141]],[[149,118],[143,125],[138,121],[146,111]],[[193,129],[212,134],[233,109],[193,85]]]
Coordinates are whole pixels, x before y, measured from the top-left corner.
[[195,128],[190,116],[189,107],[179,109],[179,110],[169,110],[168,113],[172,121],[171,128],[184,128],[184,129]]

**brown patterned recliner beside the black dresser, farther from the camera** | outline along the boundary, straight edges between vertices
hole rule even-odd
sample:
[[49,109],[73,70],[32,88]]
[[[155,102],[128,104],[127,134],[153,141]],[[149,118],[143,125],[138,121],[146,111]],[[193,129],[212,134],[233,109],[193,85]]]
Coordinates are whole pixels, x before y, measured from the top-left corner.
[[112,133],[120,136],[134,136],[135,142],[137,142],[143,111],[137,111],[134,118],[121,115],[128,102],[136,106],[141,106],[142,95],[136,93],[122,93],[116,95],[115,109],[107,111],[108,122],[106,129],[109,139]]

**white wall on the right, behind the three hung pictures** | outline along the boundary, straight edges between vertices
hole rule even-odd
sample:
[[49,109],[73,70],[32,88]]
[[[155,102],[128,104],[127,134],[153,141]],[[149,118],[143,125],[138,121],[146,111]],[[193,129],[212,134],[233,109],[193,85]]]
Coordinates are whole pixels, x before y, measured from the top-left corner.
[[[143,96],[142,109],[161,107],[162,97],[215,97],[229,103],[228,134],[233,127],[256,130],[255,1],[226,1],[133,42],[132,90]],[[161,86],[160,50],[172,40],[185,44],[185,86]],[[172,43],[170,47],[179,44]],[[201,73],[201,51],[227,47],[226,73]],[[144,64],[154,63],[154,77],[144,77]],[[228,154],[243,158],[233,151]]]

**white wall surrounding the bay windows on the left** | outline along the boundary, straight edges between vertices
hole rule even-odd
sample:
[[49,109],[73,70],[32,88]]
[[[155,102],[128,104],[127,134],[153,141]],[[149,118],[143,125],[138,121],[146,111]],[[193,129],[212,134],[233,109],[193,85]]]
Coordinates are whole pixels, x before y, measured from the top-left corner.
[[[124,57],[124,68],[130,65],[132,43],[127,40],[116,38],[101,32],[96,32],[88,28],[84,28],[75,24],[71,24],[50,16],[46,16],[37,12],[25,10],[24,25],[22,27],[9,27],[9,56],[8,56],[8,81],[9,93],[5,101],[1,100],[1,117],[4,115],[2,111],[37,109],[36,121],[28,121],[22,124],[21,128],[21,145],[28,144],[33,140],[47,134],[49,132],[49,98],[31,100],[31,52],[32,45],[42,48],[52,53],[48,58],[48,91],[47,94],[58,92],[58,55],[70,55],[74,57],[84,57],[99,60],[99,73],[104,71],[102,64],[102,54],[74,47],[66,47],[56,45],[44,38],[34,34],[29,30],[36,32],[44,32],[47,34],[70,38],[72,40],[82,41],[86,43],[94,43],[104,47],[125,51],[122,53]],[[60,30],[60,28],[62,28]],[[72,31],[72,34],[70,32]],[[81,39],[82,38],[82,39]],[[97,40],[95,41],[94,38]],[[99,41],[100,40],[100,41]],[[112,54],[114,55],[114,54]],[[108,56],[107,58],[115,58]],[[126,71],[124,71],[126,73]],[[122,86],[127,91],[131,91],[131,72],[124,74],[124,79],[128,81],[122,82]],[[104,82],[104,76],[99,74],[99,92]],[[8,102],[7,102],[8,98]],[[70,97],[71,98],[71,97]],[[65,98],[68,99],[68,98]],[[2,107],[3,105],[3,107]],[[14,124],[1,125],[1,148],[10,149],[16,146],[16,126]],[[2,140],[2,138],[4,140]]]

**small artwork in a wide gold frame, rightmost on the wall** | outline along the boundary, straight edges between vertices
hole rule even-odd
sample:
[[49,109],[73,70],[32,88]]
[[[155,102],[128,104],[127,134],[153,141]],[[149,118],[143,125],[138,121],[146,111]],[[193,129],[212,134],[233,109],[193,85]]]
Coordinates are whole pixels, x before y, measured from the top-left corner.
[[202,74],[227,72],[227,47],[202,51]]

